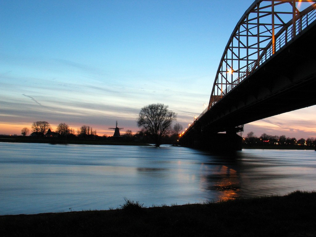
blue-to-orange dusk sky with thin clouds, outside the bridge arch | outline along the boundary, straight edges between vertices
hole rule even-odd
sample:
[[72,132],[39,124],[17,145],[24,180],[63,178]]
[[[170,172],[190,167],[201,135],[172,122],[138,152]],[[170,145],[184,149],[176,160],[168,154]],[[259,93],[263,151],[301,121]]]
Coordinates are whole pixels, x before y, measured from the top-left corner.
[[[0,134],[34,121],[138,131],[164,103],[184,127],[208,103],[230,34],[252,0],[0,2]],[[316,137],[315,106],[245,125]],[[244,134],[246,135],[246,134]]]

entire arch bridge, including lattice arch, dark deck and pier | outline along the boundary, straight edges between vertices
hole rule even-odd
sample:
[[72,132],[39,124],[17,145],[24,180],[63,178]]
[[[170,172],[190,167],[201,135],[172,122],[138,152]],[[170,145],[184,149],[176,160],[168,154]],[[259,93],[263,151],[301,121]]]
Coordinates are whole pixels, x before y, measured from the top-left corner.
[[180,142],[203,147],[217,137],[241,148],[244,124],[315,105],[315,42],[316,0],[254,1],[228,39],[208,106]]

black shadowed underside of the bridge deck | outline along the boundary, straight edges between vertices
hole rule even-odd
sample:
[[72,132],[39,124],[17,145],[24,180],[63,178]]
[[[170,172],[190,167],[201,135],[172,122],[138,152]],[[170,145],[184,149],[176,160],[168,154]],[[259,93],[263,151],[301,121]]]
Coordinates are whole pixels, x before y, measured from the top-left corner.
[[232,127],[316,104],[316,24],[284,46],[198,121],[204,130]]

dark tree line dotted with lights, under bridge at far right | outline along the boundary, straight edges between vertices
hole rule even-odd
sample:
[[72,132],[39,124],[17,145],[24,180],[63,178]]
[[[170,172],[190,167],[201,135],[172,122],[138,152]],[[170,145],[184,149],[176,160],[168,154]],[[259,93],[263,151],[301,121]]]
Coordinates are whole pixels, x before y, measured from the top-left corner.
[[313,137],[308,137],[306,140],[304,138],[296,139],[295,137],[285,137],[282,136],[272,136],[263,133],[260,137],[256,137],[251,131],[247,134],[247,137],[243,138],[243,144],[246,146],[260,146],[260,145],[275,145],[275,146],[315,146],[315,139]]

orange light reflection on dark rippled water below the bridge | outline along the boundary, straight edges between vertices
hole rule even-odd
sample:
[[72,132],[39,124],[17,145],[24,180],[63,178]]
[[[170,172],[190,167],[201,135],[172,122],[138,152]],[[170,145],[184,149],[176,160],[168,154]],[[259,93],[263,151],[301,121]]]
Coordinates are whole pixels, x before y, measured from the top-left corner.
[[[206,167],[204,166],[204,168]],[[219,165],[208,170],[207,174],[202,177],[201,187],[217,191],[219,200],[236,199],[240,193],[240,179],[236,170]]]

